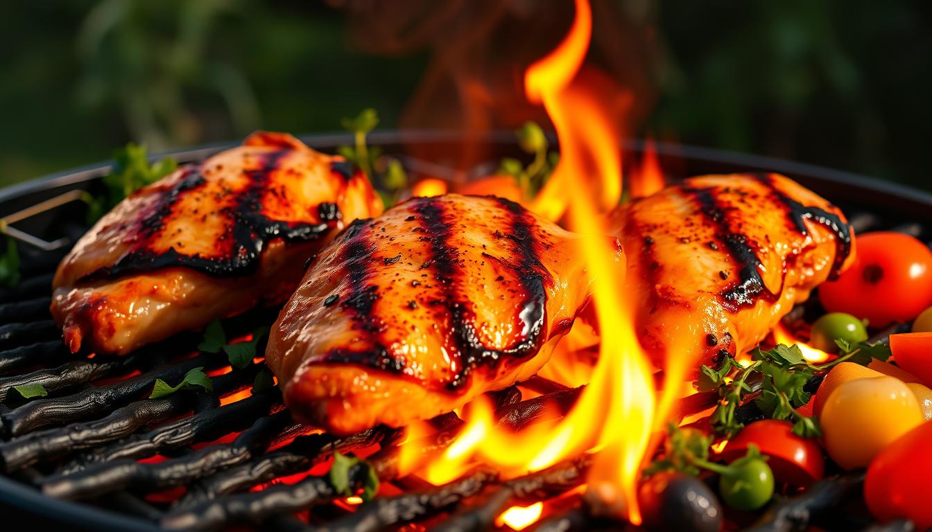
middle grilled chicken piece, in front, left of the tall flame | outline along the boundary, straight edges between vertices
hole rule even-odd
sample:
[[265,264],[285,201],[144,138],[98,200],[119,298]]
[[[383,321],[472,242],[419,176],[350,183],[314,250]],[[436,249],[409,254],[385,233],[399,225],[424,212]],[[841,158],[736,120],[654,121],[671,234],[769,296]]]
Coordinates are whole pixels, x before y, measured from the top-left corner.
[[575,243],[502,198],[412,198],[357,220],[269,334],[285,403],[346,434],[437,416],[534,375],[589,296]]

